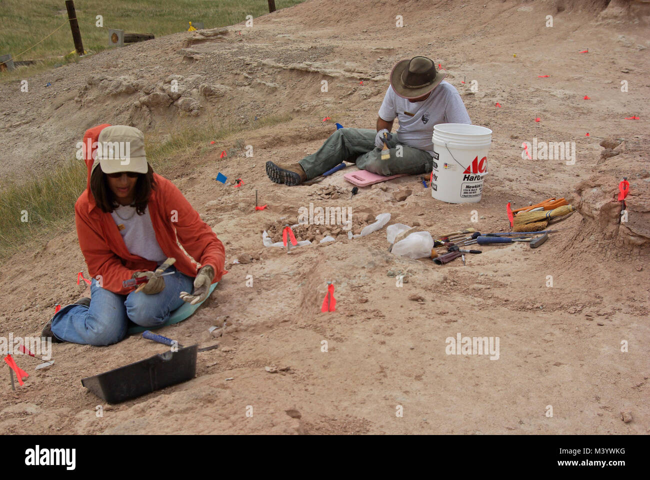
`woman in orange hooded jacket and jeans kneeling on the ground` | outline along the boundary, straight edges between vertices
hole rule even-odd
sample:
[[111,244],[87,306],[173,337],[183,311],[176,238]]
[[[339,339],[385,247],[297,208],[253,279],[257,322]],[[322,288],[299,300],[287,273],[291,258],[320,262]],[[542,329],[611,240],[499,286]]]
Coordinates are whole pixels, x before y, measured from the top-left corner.
[[[155,328],[184,301],[203,302],[224,273],[224,245],[181,191],[153,172],[140,130],[107,124],[88,129],[83,151],[88,180],[75,204],[75,222],[92,300],[62,308],[42,336],[110,345],[124,338],[129,320]],[[149,280],[138,292],[122,286],[129,278],[153,276],[169,257],[176,262],[165,273],[172,274]]]

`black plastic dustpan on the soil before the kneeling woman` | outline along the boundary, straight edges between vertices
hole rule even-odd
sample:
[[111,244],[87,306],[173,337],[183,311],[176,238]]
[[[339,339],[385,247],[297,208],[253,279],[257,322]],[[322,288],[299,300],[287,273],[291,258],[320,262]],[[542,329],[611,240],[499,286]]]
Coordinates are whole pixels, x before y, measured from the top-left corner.
[[198,345],[166,351],[94,377],[81,380],[90,392],[108,403],[120,403],[193,379]]

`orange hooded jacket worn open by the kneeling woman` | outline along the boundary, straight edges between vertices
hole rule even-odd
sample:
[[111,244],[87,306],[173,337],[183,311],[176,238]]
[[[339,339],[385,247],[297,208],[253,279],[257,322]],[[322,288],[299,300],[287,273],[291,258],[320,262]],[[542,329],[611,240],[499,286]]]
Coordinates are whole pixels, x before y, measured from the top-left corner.
[[[79,247],[90,276],[98,278],[101,275],[102,287],[113,293],[127,295],[135,288],[123,288],[122,281],[131,278],[138,271],[153,271],[157,265],[155,261],[129,253],[112,215],[101,211],[90,193],[92,153],[96,149],[92,144],[97,142],[99,132],[108,126],[109,124],[102,124],[90,128],[84,135],[83,152],[88,167],[88,180],[85,191],[75,204],[75,223]],[[87,148],[88,145],[91,148]],[[224,245],[174,183],[156,173],[153,178],[156,188],[149,198],[148,209],[162,252],[168,257],[174,257],[176,269],[187,276],[196,276],[197,261],[201,266],[211,265],[214,269],[213,283],[218,282],[224,274]],[[181,250],[177,238],[196,261]]]

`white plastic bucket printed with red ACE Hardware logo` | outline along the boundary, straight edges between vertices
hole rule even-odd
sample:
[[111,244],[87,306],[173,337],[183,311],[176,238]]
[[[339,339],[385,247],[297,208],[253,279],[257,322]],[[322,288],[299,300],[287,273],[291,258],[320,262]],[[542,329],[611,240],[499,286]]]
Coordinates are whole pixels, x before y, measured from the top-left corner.
[[434,126],[431,196],[449,204],[481,201],[492,131],[467,124]]

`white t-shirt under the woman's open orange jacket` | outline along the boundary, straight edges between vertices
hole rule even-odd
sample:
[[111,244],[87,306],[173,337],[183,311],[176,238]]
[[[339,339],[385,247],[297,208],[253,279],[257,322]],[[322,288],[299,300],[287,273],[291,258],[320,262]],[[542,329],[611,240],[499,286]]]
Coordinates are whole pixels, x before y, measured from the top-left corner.
[[149,207],[144,209],[144,215],[138,215],[135,207],[120,205],[110,215],[120,229],[120,235],[129,253],[158,264],[167,259],[153,231]]

